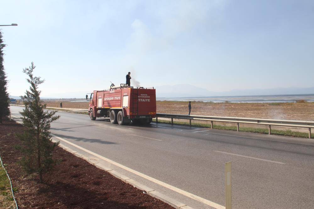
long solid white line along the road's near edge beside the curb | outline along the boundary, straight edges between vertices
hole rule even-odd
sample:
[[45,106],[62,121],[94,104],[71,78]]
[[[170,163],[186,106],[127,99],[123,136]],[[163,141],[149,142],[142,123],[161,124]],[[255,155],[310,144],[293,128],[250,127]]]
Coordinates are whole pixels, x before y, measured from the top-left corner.
[[163,186],[163,187],[166,187],[166,188],[168,188],[168,189],[170,189],[170,190],[173,190],[173,191],[175,191],[175,192],[178,192],[179,194],[182,194],[182,195],[184,195],[184,196],[190,197],[190,198],[192,198],[192,199],[194,199],[194,200],[197,200],[197,201],[199,201],[199,202],[201,202],[201,203],[204,203],[204,204],[206,204],[206,205],[212,206],[212,207],[217,208],[217,209],[225,209],[225,206],[222,206],[222,205],[219,205],[219,204],[217,204],[217,203],[215,203],[215,202],[206,200],[206,199],[204,199],[204,198],[202,198],[202,197],[199,197],[199,196],[196,196],[196,195],[194,195],[194,194],[192,194],[192,193],[190,193],[190,192],[181,190],[181,189],[179,189],[179,188],[177,188],[177,187],[174,187],[174,186],[172,186],[172,185],[169,185],[169,184],[167,184],[167,183],[164,183],[164,182],[162,182],[162,181],[160,181],[160,180],[157,180],[157,179],[154,179],[154,178],[152,178],[152,177],[150,177],[150,176],[147,176],[147,175],[145,175],[145,174],[142,174],[142,173],[140,173],[140,172],[138,172],[138,171],[136,171],[136,170],[130,169],[130,168],[124,166],[124,165],[121,165],[120,163],[114,162],[114,161],[112,161],[112,160],[110,160],[110,159],[108,159],[108,158],[105,158],[105,157],[103,157],[103,156],[101,156],[101,155],[99,155],[99,154],[96,154],[96,153],[94,153],[94,152],[91,152],[91,151],[89,151],[89,150],[87,150],[87,149],[85,149],[85,148],[83,148],[83,147],[80,147],[80,146],[78,146],[78,145],[76,145],[76,144],[74,144],[74,143],[72,143],[72,142],[69,142],[69,141],[67,141],[67,140],[65,140],[65,139],[63,139],[63,138],[61,138],[61,137],[58,137],[58,136],[56,136],[56,135],[54,135],[54,134],[51,134],[51,136],[56,137],[57,139],[59,139],[59,140],[61,140],[61,141],[63,141],[63,142],[66,142],[66,143],[68,143],[68,144],[70,144],[70,145],[72,145],[72,146],[74,146],[74,147],[77,147],[77,148],[79,148],[79,149],[81,149],[81,150],[83,150],[83,151],[85,151],[85,152],[87,152],[87,153],[90,153],[91,155],[94,155],[94,156],[97,157],[97,158],[100,158],[100,159],[102,159],[102,160],[105,160],[105,161],[107,161],[108,163],[111,163],[111,164],[113,164],[113,165],[115,165],[115,166],[118,166],[118,167],[120,167],[120,168],[122,168],[122,169],[124,169],[124,170],[127,170],[127,171],[129,171],[129,172],[131,172],[131,173],[133,173],[133,174],[136,174],[136,175],[138,175],[138,176],[140,176],[140,177],[142,177],[142,178],[144,178],[144,179],[150,180],[151,182],[154,182],[154,183],[159,184],[159,185],[161,185],[161,186]]

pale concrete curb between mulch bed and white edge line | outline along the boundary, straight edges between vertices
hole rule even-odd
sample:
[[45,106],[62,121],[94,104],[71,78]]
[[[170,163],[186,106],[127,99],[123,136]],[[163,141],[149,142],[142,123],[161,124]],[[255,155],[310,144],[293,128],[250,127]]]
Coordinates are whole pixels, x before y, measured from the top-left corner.
[[[58,141],[52,139],[52,142],[58,142]],[[117,172],[113,169],[110,169],[110,168],[102,165],[96,159],[88,158],[85,155],[82,155],[82,154],[70,149],[69,147],[65,146],[64,144],[59,143],[59,147],[61,147],[65,151],[68,151],[69,153],[74,154],[76,157],[79,157],[79,158],[86,160],[87,162],[91,163],[92,165],[95,165],[97,168],[108,172],[109,174],[111,174],[114,177],[124,181],[125,183],[130,184],[130,185],[132,185],[132,186],[134,186],[134,187],[136,187],[142,191],[145,191],[149,196],[155,197],[155,198],[157,198],[157,199],[159,199],[159,200],[161,200],[161,201],[163,201],[163,202],[165,202],[165,203],[167,203],[167,204],[169,204],[169,205],[171,205],[177,209],[193,209],[192,207],[187,206],[184,203],[181,203],[181,202],[179,202],[179,201],[177,201],[177,200],[175,200],[169,196],[166,196],[160,192],[157,192],[154,189],[151,189],[145,185],[142,185],[141,183],[139,183],[139,182],[127,177],[127,176],[124,176],[124,175],[120,174],[119,172]]]

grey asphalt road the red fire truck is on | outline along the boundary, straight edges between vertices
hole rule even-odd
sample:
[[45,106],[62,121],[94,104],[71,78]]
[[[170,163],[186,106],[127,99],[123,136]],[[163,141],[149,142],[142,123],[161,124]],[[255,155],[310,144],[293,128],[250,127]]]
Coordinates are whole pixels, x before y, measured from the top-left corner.
[[[21,110],[11,106],[13,116],[19,117]],[[233,208],[314,208],[313,139],[159,123],[119,126],[108,120],[91,121],[87,115],[58,115],[60,119],[51,126],[54,135],[219,205],[225,205],[224,163],[232,161]],[[99,160],[188,206],[212,208],[184,192]]]

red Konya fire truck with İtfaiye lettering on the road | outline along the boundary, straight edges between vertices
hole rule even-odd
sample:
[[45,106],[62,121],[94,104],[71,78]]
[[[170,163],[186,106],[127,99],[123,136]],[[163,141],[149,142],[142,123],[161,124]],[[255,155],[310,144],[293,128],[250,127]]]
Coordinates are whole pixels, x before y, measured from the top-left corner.
[[127,125],[133,123],[149,124],[156,117],[156,89],[133,88],[126,84],[110,89],[93,91],[86,94],[90,100],[88,115],[91,120],[96,117],[109,117],[113,124]]

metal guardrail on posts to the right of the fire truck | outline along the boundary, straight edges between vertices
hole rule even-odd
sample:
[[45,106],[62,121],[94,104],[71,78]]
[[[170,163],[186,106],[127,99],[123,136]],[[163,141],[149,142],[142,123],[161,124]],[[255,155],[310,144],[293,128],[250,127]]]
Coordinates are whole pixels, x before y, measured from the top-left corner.
[[213,128],[213,121],[237,123],[237,131],[239,131],[239,124],[257,124],[267,125],[268,134],[271,134],[271,126],[287,126],[287,127],[300,127],[309,129],[309,138],[311,138],[311,128],[314,128],[314,121],[290,121],[290,120],[276,120],[276,119],[259,119],[259,118],[236,118],[236,117],[218,117],[218,116],[202,116],[202,115],[175,115],[175,114],[156,114],[156,123],[159,118],[171,118],[171,124],[173,119],[186,119],[190,120],[190,126],[192,120],[199,121],[211,121],[211,128]]

